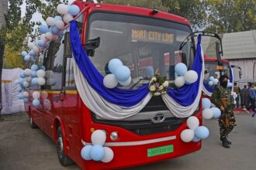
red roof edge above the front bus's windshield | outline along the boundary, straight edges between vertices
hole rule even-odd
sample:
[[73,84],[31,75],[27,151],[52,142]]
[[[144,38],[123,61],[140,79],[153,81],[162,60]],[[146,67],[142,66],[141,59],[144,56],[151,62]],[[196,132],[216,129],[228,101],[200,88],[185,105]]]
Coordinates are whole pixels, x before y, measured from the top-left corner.
[[80,9],[85,8],[88,6],[89,12],[94,10],[97,11],[106,11],[106,12],[122,12],[131,15],[144,15],[150,16],[155,19],[165,19],[172,22],[178,22],[190,26],[190,22],[188,19],[185,19],[178,15],[173,15],[168,12],[157,12],[157,14],[153,14],[153,9],[150,8],[141,8],[135,6],[126,6],[126,5],[112,5],[112,4],[102,4],[102,3],[92,3],[92,2],[81,2],[76,1],[74,2],[75,5],[78,5]]

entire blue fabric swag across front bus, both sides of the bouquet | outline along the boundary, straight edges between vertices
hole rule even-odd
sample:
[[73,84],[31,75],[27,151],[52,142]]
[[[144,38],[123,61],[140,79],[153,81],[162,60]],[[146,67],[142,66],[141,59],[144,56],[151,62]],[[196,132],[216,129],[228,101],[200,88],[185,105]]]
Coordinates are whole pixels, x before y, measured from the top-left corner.
[[[88,58],[85,50],[81,45],[77,23],[71,21],[70,25],[70,39],[71,49],[79,69],[89,85],[101,95],[105,100],[112,104],[123,107],[132,107],[139,104],[144,97],[149,93],[148,83],[137,90],[121,90],[119,88],[108,89],[103,84],[103,76],[95,68],[92,61]],[[201,36],[197,45],[195,61],[192,70],[198,73],[199,78],[195,83],[185,85],[184,87],[176,90],[168,88],[168,95],[173,98],[178,104],[182,106],[189,106],[192,104],[199,92],[200,75],[202,72],[202,56],[201,56]]]

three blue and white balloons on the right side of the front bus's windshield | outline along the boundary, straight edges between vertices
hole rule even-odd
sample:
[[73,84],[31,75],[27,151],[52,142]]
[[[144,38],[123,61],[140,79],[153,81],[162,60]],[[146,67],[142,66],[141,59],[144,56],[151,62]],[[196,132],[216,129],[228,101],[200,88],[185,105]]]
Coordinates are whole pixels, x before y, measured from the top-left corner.
[[182,87],[185,83],[195,83],[198,79],[198,74],[194,70],[189,70],[184,63],[175,65],[175,86]]

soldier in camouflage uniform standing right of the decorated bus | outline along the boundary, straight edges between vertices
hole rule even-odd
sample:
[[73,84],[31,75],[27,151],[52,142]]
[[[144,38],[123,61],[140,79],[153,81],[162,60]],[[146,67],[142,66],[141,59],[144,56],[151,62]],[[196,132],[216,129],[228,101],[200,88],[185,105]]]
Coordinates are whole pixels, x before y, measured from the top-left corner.
[[219,118],[220,141],[223,142],[224,148],[230,148],[231,142],[227,139],[227,136],[236,125],[233,112],[234,98],[227,88],[227,80],[227,75],[220,76],[220,87],[216,87],[211,97],[212,103],[221,110],[221,116]]

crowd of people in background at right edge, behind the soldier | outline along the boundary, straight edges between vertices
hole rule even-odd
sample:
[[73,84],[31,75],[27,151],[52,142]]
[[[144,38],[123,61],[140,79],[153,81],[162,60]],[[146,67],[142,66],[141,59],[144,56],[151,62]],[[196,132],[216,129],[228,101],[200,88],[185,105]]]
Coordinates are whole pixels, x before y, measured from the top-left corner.
[[249,114],[252,110],[252,117],[256,114],[255,100],[256,100],[256,87],[254,83],[248,82],[244,88],[240,90],[237,83],[234,83],[234,92],[237,93],[236,107],[242,107]]

